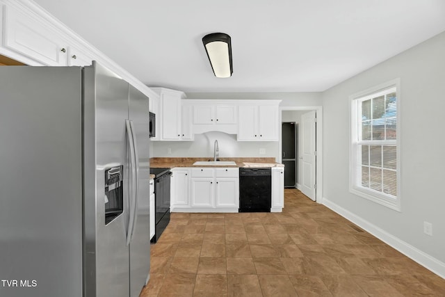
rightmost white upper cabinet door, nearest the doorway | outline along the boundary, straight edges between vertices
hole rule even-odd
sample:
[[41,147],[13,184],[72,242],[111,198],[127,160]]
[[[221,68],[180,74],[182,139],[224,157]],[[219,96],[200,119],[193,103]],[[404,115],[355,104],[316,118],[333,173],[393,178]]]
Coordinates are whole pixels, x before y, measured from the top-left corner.
[[259,140],[277,141],[279,131],[278,106],[259,106]]

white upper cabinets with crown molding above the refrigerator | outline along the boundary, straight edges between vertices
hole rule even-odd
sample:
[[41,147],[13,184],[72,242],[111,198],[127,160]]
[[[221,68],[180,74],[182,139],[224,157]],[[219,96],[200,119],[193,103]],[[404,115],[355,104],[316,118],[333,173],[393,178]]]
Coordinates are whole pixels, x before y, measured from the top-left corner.
[[147,97],[154,95],[34,1],[0,0],[0,55],[30,66],[87,66],[94,60]]

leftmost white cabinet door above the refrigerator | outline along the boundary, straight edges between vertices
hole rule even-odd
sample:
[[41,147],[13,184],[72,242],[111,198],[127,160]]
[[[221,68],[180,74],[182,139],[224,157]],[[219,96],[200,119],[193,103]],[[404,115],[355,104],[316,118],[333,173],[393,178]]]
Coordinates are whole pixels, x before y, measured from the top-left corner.
[[44,65],[66,66],[67,47],[42,19],[5,7],[4,45]]

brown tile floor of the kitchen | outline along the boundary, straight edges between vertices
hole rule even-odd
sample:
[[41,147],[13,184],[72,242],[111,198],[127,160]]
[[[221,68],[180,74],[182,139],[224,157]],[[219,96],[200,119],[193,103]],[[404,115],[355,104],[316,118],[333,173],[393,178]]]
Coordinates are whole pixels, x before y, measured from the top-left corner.
[[173,213],[140,297],[445,296],[445,280],[296,189],[282,213]]

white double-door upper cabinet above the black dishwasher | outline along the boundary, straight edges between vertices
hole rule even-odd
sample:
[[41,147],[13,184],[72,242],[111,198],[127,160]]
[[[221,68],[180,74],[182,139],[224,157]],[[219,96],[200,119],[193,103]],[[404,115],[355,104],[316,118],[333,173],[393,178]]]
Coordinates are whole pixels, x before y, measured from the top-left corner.
[[256,101],[238,107],[238,141],[278,141],[278,100]]

